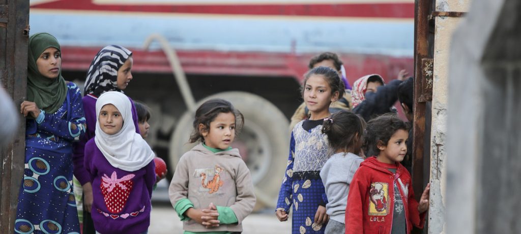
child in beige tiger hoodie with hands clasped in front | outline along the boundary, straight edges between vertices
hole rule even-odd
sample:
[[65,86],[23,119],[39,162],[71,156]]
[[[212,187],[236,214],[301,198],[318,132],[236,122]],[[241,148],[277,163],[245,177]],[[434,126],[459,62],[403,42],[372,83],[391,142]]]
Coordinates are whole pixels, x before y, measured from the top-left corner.
[[243,123],[243,115],[222,99],[210,99],[195,112],[190,142],[201,144],[183,154],[169,188],[185,234],[239,233],[252,212],[256,198],[250,171],[239,150],[231,148]]

